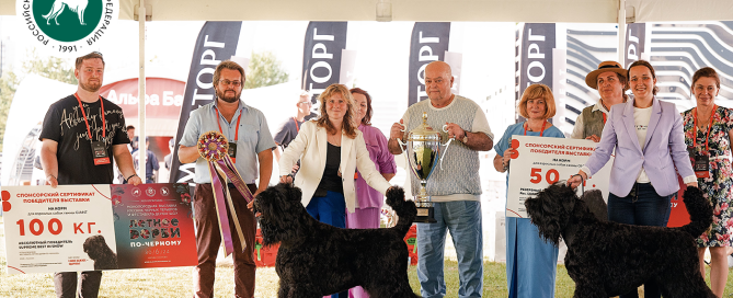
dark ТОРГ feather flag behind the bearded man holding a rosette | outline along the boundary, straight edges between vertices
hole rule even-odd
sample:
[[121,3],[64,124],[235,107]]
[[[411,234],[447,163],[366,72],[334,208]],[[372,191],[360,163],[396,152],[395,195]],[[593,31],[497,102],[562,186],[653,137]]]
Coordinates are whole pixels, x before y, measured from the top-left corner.
[[[206,22],[198,33],[196,47],[191,59],[186,89],[183,93],[181,118],[175,139],[183,137],[191,111],[210,103],[215,98],[214,70],[219,62],[231,58],[237,51],[242,22]],[[173,147],[173,156],[179,156],[179,147]],[[174,158],[171,164],[170,183],[193,183],[195,163],[181,164]]]

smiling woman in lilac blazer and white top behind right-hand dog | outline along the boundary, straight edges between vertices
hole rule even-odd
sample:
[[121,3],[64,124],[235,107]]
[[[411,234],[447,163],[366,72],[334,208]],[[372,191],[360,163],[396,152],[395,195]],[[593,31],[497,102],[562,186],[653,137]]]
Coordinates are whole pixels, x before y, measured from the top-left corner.
[[[581,171],[583,180],[598,172],[616,149],[610,173],[608,220],[638,226],[665,227],[671,198],[679,190],[675,168],[687,185],[697,177],[685,146],[683,119],[673,103],[654,95],[654,68],[644,60],[629,66],[633,101],[611,107],[600,142]],[[580,176],[568,180],[576,187]],[[633,290],[620,298],[638,297]],[[644,297],[661,297],[653,283],[644,285]]]

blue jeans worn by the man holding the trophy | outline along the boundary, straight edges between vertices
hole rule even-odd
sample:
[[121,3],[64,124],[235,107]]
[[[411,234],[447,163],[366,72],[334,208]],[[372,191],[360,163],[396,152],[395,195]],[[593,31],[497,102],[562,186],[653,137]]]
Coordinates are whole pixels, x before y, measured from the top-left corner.
[[417,278],[424,298],[443,297],[446,231],[458,256],[458,297],[481,297],[483,288],[483,233],[481,202],[433,203],[435,224],[417,224]]

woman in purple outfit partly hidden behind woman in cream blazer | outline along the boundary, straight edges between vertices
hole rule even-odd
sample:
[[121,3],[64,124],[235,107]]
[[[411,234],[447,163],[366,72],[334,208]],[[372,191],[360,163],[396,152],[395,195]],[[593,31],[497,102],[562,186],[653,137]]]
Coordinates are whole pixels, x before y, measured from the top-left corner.
[[[371,96],[366,91],[354,88],[350,90],[354,96],[358,114],[359,130],[364,135],[369,158],[387,181],[390,181],[397,172],[394,156],[387,149],[387,138],[377,127],[371,126]],[[346,213],[346,228],[350,229],[376,229],[379,228],[379,215],[385,204],[385,196],[367,185],[366,181],[357,171],[354,176],[356,186],[356,209],[353,214]],[[350,297],[369,297],[362,287],[352,288]]]

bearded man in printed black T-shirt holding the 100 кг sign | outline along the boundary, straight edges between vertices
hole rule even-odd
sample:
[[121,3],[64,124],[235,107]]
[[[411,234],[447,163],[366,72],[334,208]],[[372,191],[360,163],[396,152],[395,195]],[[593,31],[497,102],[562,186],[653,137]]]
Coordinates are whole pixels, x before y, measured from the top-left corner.
[[[138,185],[133,157],[127,150],[122,108],[100,96],[104,59],[100,53],[77,58],[77,92],[48,107],[38,139],[41,163],[51,187],[69,184],[112,184],[114,157],[128,183]],[[82,272],[79,297],[96,297],[102,272]],[[57,297],[76,297],[77,273],[54,274]]]

